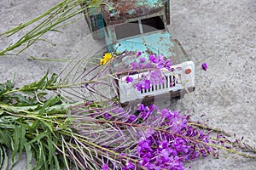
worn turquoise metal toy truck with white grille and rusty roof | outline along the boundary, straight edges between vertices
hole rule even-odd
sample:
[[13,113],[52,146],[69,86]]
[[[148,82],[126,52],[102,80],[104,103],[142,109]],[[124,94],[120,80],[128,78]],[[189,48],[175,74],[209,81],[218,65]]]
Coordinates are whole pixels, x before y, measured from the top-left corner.
[[[150,54],[161,54],[172,61],[172,72],[164,71],[166,82],[152,85],[146,90],[138,91],[133,88],[131,83],[125,82],[125,76],[120,74],[117,85],[122,104],[164,94],[174,97],[194,91],[194,63],[181,44],[172,39],[167,29],[170,24],[169,0],[108,0],[102,3],[101,8],[89,10],[91,11],[86,15],[86,20],[93,37],[105,38],[108,52],[122,54],[121,58],[112,60],[112,71],[120,63],[130,65],[130,54],[137,52],[142,54],[136,56],[136,61],[148,59]],[[103,27],[102,31],[97,31]],[[129,54],[124,55],[125,52]],[[139,78],[136,72],[131,77]]]

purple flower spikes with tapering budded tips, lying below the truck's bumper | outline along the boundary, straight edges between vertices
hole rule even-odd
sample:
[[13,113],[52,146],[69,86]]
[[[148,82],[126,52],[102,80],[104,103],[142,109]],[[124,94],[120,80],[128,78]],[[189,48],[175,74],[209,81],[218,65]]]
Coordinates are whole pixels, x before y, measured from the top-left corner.
[[[219,133],[217,138],[214,138],[211,135],[212,130],[202,130],[199,128],[202,127],[201,123],[189,122],[189,116],[183,116],[178,111],[159,110],[156,105],[140,104],[137,107],[137,114],[132,115],[131,122],[127,122],[127,114],[126,112],[125,116],[121,114],[122,116],[113,117],[113,125],[116,123],[132,127],[137,136],[133,137],[129,150],[118,150],[122,170],[183,170],[186,168],[186,161],[195,161],[200,156],[218,157],[218,149],[236,152],[241,156],[248,155],[230,150],[230,147],[252,151],[252,148],[242,146],[241,141],[237,139],[231,142]],[[116,164],[107,161],[102,165],[102,170],[119,169],[116,167]]]

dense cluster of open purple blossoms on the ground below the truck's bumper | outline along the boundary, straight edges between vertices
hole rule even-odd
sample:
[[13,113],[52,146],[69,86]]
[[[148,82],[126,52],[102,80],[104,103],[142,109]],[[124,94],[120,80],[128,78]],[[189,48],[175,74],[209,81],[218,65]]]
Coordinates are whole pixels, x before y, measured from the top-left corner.
[[[194,161],[199,156],[212,153],[207,145],[209,133],[189,125],[189,116],[182,116],[178,111],[158,110],[155,105],[138,105],[138,117],[152,119],[160,117],[158,126],[148,127],[138,139],[134,157],[138,165],[148,170],[184,169],[184,161]],[[131,162],[123,169],[132,169]]]

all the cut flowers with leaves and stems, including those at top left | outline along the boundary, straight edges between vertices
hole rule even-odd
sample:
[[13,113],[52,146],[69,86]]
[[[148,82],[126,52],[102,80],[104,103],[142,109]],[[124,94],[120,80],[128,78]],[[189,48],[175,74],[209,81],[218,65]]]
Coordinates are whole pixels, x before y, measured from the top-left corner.
[[[80,7],[81,3],[85,5]],[[99,4],[101,1],[61,1],[36,19],[1,34],[10,37],[44,19],[0,55],[26,44],[20,50],[23,51],[33,42],[44,40],[40,38],[46,32],[73,23],[78,20],[74,16]],[[71,18],[70,23],[65,22]],[[141,91],[165,83],[162,69],[173,70],[171,60],[151,54],[148,59],[134,60],[128,67],[118,65],[119,69],[113,71],[109,63],[117,55],[121,56],[106,54],[97,62],[83,61],[90,68],[84,65],[82,73],[71,78],[75,80],[72,83],[48,72],[38,82],[20,88],[15,88],[14,81],[0,83],[1,169],[13,167],[24,152],[27,169],[182,170],[186,169],[185,162],[218,157],[221,150],[256,158],[256,150],[244,144],[243,138],[193,122],[179,111],[145,103],[122,107],[115,83],[119,75],[125,75],[125,82]],[[91,67],[91,63],[95,65]],[[143,77],[134,81],[131,75],[135,72]],[[107,83],[108,80],[112,81]],[[178,77],[174,83],[178,83]],[[116,95],[109,98],[98,86],[108,86]]]

